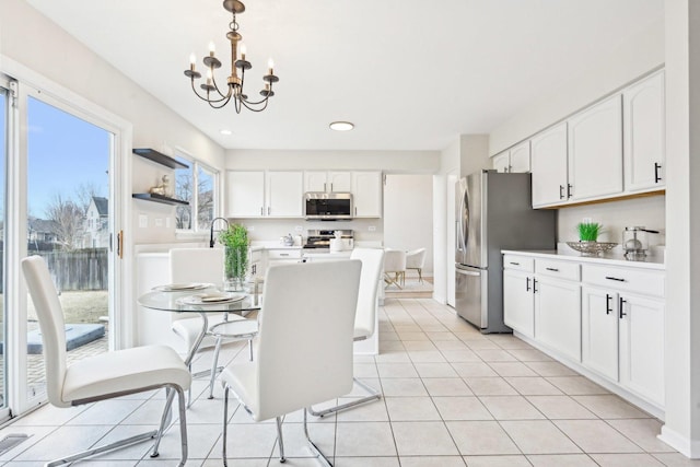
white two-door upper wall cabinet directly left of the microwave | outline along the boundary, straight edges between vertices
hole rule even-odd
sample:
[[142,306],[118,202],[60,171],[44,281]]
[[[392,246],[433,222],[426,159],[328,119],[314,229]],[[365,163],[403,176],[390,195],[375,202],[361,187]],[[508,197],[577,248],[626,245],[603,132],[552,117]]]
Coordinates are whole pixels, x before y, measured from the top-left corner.
[[231,171],[226,174],[230,218],[301,218],[301,172]]

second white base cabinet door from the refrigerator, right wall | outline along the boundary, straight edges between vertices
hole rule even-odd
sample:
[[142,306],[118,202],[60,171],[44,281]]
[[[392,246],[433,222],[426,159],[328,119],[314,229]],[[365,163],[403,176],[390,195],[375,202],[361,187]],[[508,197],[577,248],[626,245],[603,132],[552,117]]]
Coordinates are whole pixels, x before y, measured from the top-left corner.
[[579,282],[537,277],[535,337],[557,352],[581,361],[581,287]]

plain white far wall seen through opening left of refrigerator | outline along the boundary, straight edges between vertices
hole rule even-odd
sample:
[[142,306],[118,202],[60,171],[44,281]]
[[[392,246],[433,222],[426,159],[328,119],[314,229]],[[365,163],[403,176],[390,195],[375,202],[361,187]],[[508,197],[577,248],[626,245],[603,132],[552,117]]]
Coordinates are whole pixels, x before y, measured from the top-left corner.
[[[425,248],[423,276],[433,275],[433,177],[387,175],[384,186],[384,245]],[[407,276],[416,271],[407,271]]]

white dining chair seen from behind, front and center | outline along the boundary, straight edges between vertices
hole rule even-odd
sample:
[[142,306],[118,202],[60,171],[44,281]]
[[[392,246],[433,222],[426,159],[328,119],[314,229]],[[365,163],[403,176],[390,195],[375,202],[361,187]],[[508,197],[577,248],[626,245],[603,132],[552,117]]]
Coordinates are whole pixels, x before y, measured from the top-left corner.
[[318,459],[330,465],[308,436],[306,408],[352,389],[359,260],[280,265],[269,268],[258,315],[257,355],[221,373],[223,464],[226,465],[229,393],[255,421],[277,420],[284,462],[282,416],[304,409],[304,435]]

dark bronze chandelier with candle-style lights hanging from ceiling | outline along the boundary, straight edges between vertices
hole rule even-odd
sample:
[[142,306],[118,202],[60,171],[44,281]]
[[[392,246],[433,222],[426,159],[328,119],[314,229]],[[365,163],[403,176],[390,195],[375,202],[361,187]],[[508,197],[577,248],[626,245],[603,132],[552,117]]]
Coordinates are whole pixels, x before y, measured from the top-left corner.
[[[279,81],[279,78],[273,74],[272,60],[269,60],[267,74],[262,77],[264,87],[260,91],[262,98],[259,101],[248,100],[248,96],[243,92],[243,86],[245,71],[253,68],[253,65],[245,59],[246,49],[241,42],[243,36],[238,33],[238,23],[236,22],[236,13],[243,13],[245,5],[238,0],[224,0],[223,8],[233,14],[233,20],[229,23],[231,31],[226,33],[226,38],[231,40],[231,74],[226,79],[228,90],[224,89],[226,92],[222,92],[214,78],[214,70],[221,68],[221,61],[214,56],[213,43],[209,43],[209,56],[202,60],[207,70],[207,82],[200,84],[199,87],[203,93],[197,91],[195,86],[195,81],[201,78],[201,73],[195,69],[195,54],[189,56],[189,70],[185,70],[185,75],[190,79],[192,91],[197,97],[206,101],[213,108],[222,108],[233,100],[236,114],[240,114],[243,107],[253,112],[265,110],[268,100],[275,95],[272,83]],[[238,45],[241,46],[241,58],[238,58]]]

